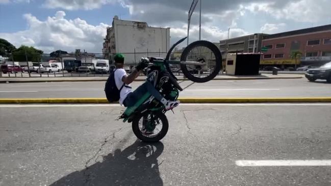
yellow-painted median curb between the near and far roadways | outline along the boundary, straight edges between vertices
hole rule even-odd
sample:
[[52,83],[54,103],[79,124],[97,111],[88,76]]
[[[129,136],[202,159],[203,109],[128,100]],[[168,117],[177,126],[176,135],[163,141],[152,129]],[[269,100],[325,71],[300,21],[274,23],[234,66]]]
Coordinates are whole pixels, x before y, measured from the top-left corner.
[[[331,97],[297,98],[179,98],[182,103],[292,103],[292,102],[331,102]],[[10,98],[0,99],[0,104],[32,103],[109,103],[106,98]]]

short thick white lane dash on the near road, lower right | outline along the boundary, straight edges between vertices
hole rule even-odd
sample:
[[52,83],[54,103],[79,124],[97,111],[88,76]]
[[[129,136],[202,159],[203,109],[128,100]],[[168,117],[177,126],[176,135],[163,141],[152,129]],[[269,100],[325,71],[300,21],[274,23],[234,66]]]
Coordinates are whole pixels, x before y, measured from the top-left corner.
[[331,160],[238,160],[240,167],[262,166],[331,166]]

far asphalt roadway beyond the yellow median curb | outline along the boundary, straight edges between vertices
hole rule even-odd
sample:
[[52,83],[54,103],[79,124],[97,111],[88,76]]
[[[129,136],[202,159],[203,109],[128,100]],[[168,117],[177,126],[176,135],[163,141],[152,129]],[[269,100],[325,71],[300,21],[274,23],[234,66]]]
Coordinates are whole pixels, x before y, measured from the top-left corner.
[[[142,82],[134,82],[133,89]],[[216,80],[203,84],[180,82],[180,97],[328,97],[331,84],[300,79]],[[0,84],[0,98],[101,98],[105,82]]]

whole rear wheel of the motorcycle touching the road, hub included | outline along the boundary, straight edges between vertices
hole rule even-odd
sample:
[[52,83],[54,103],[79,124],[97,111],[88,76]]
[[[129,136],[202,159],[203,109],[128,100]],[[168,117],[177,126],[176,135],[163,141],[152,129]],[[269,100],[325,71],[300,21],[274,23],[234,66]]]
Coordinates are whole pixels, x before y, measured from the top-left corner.
[[146,111],[132,121],[132,130],[143,142],[158,142],[168,132],[168,119],[162,112]]

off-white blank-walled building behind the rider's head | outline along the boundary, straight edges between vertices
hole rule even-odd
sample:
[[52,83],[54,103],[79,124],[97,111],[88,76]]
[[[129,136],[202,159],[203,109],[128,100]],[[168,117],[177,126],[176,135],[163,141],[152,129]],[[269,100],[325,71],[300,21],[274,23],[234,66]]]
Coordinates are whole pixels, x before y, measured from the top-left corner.
[[112,61],[112,56],[120,52],[125,55],[125,64],[133,65],[147,55],[164,58],[169,48],[170,28],[151,27],[146,22],[120,20],[115,16],[112,27],[107,28],[103,54]]

